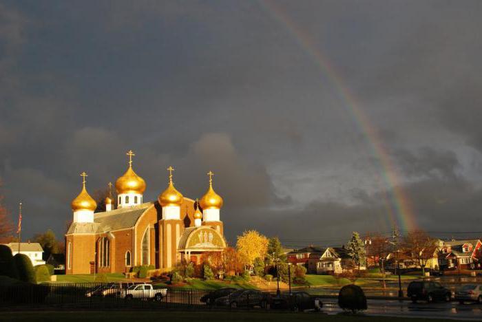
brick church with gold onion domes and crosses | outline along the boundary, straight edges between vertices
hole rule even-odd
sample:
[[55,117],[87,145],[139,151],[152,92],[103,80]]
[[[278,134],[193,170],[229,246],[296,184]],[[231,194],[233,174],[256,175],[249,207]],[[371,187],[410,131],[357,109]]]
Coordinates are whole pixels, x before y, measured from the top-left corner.
[[87,193],[83,172],[81,193],[72,201],[73,222],[65,234],[66,274],[128,272],[132,266],[153,265],[165,271],[178,264],[200,264],[206,252],[226,248],[220,220],[222,197],[209,187],[201,199],[184,197],[174,187],[174,168],[169,183],[154,202],[143,202],[146,184],[129,167],[116,180],[118,206],[112,196],[105,199],[106,211],[94,213],[95,200]]

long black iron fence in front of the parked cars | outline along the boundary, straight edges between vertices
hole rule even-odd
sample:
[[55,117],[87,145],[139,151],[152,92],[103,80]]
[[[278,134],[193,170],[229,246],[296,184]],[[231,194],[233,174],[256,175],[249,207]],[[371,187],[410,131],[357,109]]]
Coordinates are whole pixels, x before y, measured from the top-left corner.
[[211,292],[132,283],[0,285],[0,308],[269,308],[267,292],[238,290],[216,299]]

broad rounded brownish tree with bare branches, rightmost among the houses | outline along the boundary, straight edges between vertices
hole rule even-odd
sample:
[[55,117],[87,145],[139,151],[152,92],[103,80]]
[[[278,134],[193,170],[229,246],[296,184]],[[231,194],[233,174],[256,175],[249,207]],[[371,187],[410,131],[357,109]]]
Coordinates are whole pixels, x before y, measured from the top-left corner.
[[436,239],[433,239],[423,230],[413,230],[409,232],[402,242],[402,247],[412,260],[417,261],[425,275],[425,266],[429,259],[433,257],[437,247]]

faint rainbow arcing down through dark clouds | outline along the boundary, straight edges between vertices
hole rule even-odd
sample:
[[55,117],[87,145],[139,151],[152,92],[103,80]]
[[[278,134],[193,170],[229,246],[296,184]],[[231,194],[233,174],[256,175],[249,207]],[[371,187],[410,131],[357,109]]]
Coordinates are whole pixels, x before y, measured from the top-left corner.
[[336,89],[337,96],[344,103],[348,114],[353,118],[355,125],[362,131],[364,138],[368,144],[371,155],[375,157],[381,164],[379,170],[381,180],[384,182],[384,193],[386,209],[388,211],[388,220],[390,227],[397,225],[402,230],[414,230],[417,227],[415,222],[415,214],[408,196],[399,184],[399,176],[394,164],[390,160],[390,155],[377,129],[372,125],[368,116],[357,104],[355,96],[344,85],[342,77],[337,73],[328,58],[314,45],[311,37],[304,32],[281,8],[274,5],[269,0],[259,0],[260,5],[268,12],[276,21],[279,21],[286,27],[286,30],[296,39],[302,49],[311,56],[320,71],[331,81]]

